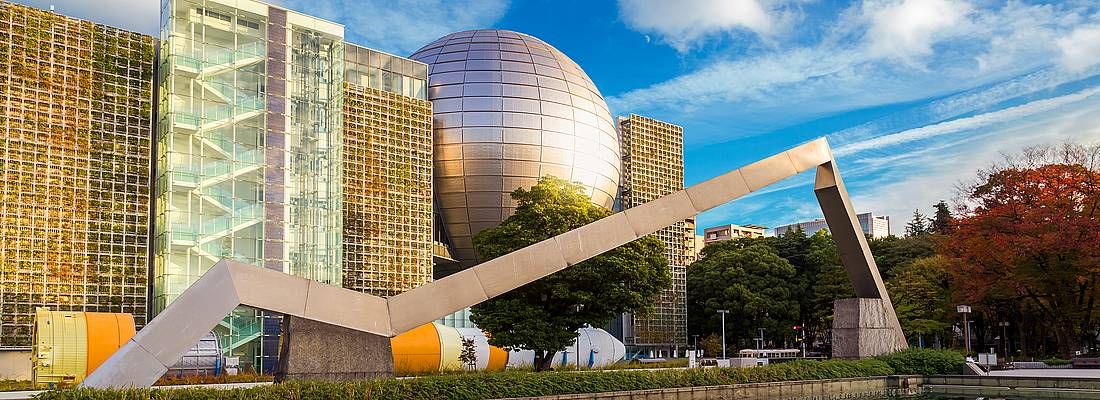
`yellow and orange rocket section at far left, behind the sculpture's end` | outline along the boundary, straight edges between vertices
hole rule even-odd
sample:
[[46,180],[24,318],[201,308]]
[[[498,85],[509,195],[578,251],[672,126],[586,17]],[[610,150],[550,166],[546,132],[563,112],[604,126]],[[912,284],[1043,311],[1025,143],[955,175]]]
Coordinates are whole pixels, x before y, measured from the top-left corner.
[[80,384],[133,335],[131,314],[38,308],[32,340],[34,382]]

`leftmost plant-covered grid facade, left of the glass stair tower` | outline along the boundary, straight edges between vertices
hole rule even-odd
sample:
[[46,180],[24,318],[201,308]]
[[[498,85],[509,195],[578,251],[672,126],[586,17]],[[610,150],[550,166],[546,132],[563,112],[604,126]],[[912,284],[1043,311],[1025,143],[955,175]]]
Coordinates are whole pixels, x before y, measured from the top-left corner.
[[0,349],[36,307],[145,322],[153,64],[151,36],[0,1]]

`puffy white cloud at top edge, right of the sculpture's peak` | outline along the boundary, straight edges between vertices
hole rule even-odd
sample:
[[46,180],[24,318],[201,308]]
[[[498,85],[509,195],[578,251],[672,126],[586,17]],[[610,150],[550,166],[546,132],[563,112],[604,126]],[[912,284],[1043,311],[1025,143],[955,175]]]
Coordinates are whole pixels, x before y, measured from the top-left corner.
[[970,10],[969,3],[957,0],[865,1],[867,45],[876,55],[912,63],[931,55],[932,46]]

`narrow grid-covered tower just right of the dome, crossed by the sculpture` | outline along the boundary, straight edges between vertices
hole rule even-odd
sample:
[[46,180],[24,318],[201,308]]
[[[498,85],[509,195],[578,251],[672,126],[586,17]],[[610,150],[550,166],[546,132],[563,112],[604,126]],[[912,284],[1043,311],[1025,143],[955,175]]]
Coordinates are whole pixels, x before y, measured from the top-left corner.
[[[684,187],[683,129],[630,114],[618,119],[623,141],[622,207],[629,209]],[[660,295],[647,316],[626,315],[627,345],[654,351],[656,356],[688,343],[686,268],[695,260],[695,222],[686,220],[654,233],[664,242],[672,286]]]

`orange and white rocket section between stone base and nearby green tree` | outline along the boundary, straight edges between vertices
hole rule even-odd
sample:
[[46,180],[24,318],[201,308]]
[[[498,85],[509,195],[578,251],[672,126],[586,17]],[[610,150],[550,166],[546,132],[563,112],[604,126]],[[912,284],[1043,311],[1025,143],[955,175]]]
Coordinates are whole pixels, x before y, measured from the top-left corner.
[[475,367],[503,370],[508,352],[490,346],[480,330],[458,330],[439,323],[428,323],[397,335],[389,341],[394,352],[394,371],[398,375],[426,374],[463,369],[462,340],[474,338]]

